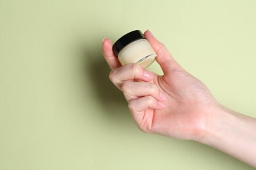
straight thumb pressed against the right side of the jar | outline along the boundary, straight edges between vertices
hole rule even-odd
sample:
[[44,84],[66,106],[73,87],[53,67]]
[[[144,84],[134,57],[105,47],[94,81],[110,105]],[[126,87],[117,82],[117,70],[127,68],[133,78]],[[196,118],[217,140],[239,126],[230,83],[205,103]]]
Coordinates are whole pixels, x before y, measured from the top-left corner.
[[156,61],[160,64],[164,74],[170,73],[173,69],[182,69],[179,63],[177,63],[173,56],[171,56],[164,44],[158,41],[149,30],[144,33],[144,36],[154,48],[157,54]]

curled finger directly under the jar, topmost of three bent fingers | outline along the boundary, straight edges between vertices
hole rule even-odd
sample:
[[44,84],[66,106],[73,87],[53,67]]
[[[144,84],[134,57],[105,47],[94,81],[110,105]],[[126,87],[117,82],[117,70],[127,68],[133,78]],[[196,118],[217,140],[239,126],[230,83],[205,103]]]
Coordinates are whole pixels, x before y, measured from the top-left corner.
[[110,72],[110,80],[121,88],[121,84],[130,80],[142,80],[149,82],[154,78],[154,73],[146,71],[144,67],[137,63],[131,63],[118,67]]

